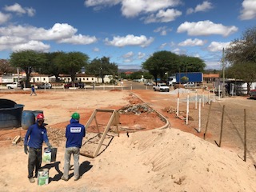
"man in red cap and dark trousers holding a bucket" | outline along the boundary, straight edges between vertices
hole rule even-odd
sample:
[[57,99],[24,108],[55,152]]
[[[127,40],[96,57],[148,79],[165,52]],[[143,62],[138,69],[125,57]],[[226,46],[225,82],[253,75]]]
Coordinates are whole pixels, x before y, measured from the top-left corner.
[[[42,142],[46,142],[46,145],[51,148],[48,140],[46,127],[44,126],[43,114],[37,115],[37,121],[34,125],[30,126],[26,131],[24,138],[24,152],[29,153],[28,161],[28,178],[30,182],[34,182],[33,172],[35,170],[34,177],[37,178],[38,170],[42,163]],[[30,146],[28,149],[27,146]]]

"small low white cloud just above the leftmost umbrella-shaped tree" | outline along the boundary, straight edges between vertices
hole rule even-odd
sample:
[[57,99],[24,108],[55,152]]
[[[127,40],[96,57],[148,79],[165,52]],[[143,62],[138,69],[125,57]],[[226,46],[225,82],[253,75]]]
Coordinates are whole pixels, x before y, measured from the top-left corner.
[[50,45],[46,45],[42,42],[38,41],[30,41],[24,44],[18,44],[16,46],[12,47],[13,51],[20,51],[20,50],[36,50],[36,51],[42,51],[47,52],[50,50]]

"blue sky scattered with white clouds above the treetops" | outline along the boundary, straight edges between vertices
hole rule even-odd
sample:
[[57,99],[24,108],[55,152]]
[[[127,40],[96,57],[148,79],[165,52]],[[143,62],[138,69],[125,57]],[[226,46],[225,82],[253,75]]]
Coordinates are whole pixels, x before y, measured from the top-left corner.
[[256,24],[256,0],[0,0],[0,58],[81,51],[139,69],[160,50],[221,69],[222,49]]

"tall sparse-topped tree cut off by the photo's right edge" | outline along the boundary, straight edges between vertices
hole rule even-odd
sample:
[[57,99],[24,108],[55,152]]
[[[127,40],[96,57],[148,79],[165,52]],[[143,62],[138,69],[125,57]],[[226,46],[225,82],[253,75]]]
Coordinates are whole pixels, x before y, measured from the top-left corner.
[[246,81],[249,94],[251,83],[256,81],[256,26],[244,31],[242,38],[231,42],[225,52],[230,63],[227,75]]

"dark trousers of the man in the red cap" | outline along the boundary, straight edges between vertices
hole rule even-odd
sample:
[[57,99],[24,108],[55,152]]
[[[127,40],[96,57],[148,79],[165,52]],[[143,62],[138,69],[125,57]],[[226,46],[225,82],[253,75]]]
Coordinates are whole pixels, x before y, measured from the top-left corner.
[[42,163],[42,149],[35,149],[30,147],[29,151],[29,163],[28,163],[28,170],[29,175],[28,178],[33,178],[33,172],[35,169],[35,175],[38,175],[38,170],[41,167]]

